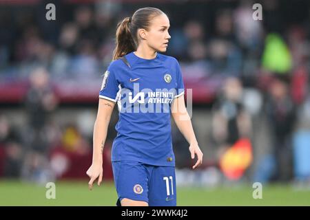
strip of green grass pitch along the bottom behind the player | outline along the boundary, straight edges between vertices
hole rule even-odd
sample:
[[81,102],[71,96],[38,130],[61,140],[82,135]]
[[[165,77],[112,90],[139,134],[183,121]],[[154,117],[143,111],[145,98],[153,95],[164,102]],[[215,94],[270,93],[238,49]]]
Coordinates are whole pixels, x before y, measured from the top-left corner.
[[[56,182],[56,199],[46,199],[48,188],[19,181],[0,181],[0,206],[115,206],[113,183],[103,182],[88,190],[85,181]],[[310,190],[292,186],[263,186],[262,199],[254,199],[254,188],[178,187],[178,206],[310,206]]]

